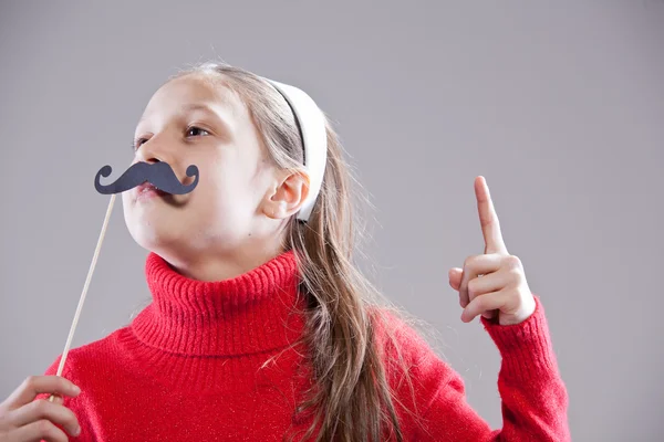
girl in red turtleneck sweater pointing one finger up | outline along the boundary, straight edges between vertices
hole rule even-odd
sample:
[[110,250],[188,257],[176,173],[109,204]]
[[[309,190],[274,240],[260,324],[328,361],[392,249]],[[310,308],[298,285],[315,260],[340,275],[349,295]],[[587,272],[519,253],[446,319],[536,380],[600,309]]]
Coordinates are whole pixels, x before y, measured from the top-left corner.
[[[502,356],[495,431],[460,376],[354,267],[338,136],[320,113],[323,143],[304,146],[317,123],[276,85],[206,63],[153,95],[134,164],[165,161],[183,182],[189,165],[200,170],[187,194],[123,192],[127,228],[149,251],[153,302],[73,349],[62,378],[62,355],[29,377],[0,406],[0,441],[569,440],[544,313],[484,178],[485,253],[452,269],[449,284],[461,319],[481,315]],[[304,166],[321,154],[317,175]],[[51,393],[60,398],[42,400]]]

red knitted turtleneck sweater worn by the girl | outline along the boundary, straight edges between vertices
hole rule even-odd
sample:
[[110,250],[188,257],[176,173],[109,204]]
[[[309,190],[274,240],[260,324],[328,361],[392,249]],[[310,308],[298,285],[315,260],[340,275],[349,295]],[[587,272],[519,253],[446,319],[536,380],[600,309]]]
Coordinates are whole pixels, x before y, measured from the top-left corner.
[[[303,307],[292,252],[243,275],[201,282],[177,273],[157,254],[146,261],[153,303],[126,327],[72,349],[63,377],[82,392],[65,397],[82,425],[71,441],[280,441],[310,377],[298,368],[304,349]],[[466,402],[460,376],[417,333],[388,315],[412,365],[415,396],[396,388],[406,441],[567,441],[568,396],[551,348],[543,308],[519,325],[481,319],[502,356],[498,390],[502,430]],[[378,343],[384,335],[378,326]],[[387,360],[393,347],[384,345]],[[60,355],[46,375],[54,375]],[[398,371],[388,371],[396,386]],[[48,394],[38,396],[37,400]]]

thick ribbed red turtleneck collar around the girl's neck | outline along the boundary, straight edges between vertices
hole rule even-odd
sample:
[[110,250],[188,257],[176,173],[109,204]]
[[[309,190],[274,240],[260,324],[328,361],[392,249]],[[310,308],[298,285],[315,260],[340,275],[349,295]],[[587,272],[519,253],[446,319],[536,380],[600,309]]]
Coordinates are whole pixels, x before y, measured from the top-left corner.
[[145,263],[153,302],[132,322],[145,345],[186,356],[239,356],[294,343],[304,299],[292,251],[240,276],[186,277],[154,252]]

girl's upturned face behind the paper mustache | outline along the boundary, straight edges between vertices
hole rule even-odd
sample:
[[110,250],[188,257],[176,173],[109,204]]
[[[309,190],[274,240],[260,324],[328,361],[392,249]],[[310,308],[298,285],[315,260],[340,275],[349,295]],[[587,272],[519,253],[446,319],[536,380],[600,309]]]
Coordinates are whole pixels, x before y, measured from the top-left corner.
[[273,255],[269,241],[292,213],[280,201],[283,172],[268,158],[247,106],[211,80],[188,74],[163,85],[135,131],[132,164],[166,161],[184,185],[194,181],[185,171],[196,165],[197,187],[186,194],[143,198],[138,188],[122,194],[134,240],[180,265],[257,249]]

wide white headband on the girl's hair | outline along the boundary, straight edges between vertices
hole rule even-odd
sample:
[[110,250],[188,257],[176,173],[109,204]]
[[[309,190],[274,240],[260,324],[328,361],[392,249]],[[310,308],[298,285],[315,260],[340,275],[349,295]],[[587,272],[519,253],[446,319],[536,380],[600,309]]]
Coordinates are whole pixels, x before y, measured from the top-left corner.
[[[264,77],[263,77],[264,78]],[[304,168],[309,173],[309,194],[298,212],[298,220],[308,221],[323,183],[328,161],[328,133],[325,116],[315,102],[302,90],[264,78],[286,98],[302,134]]]

